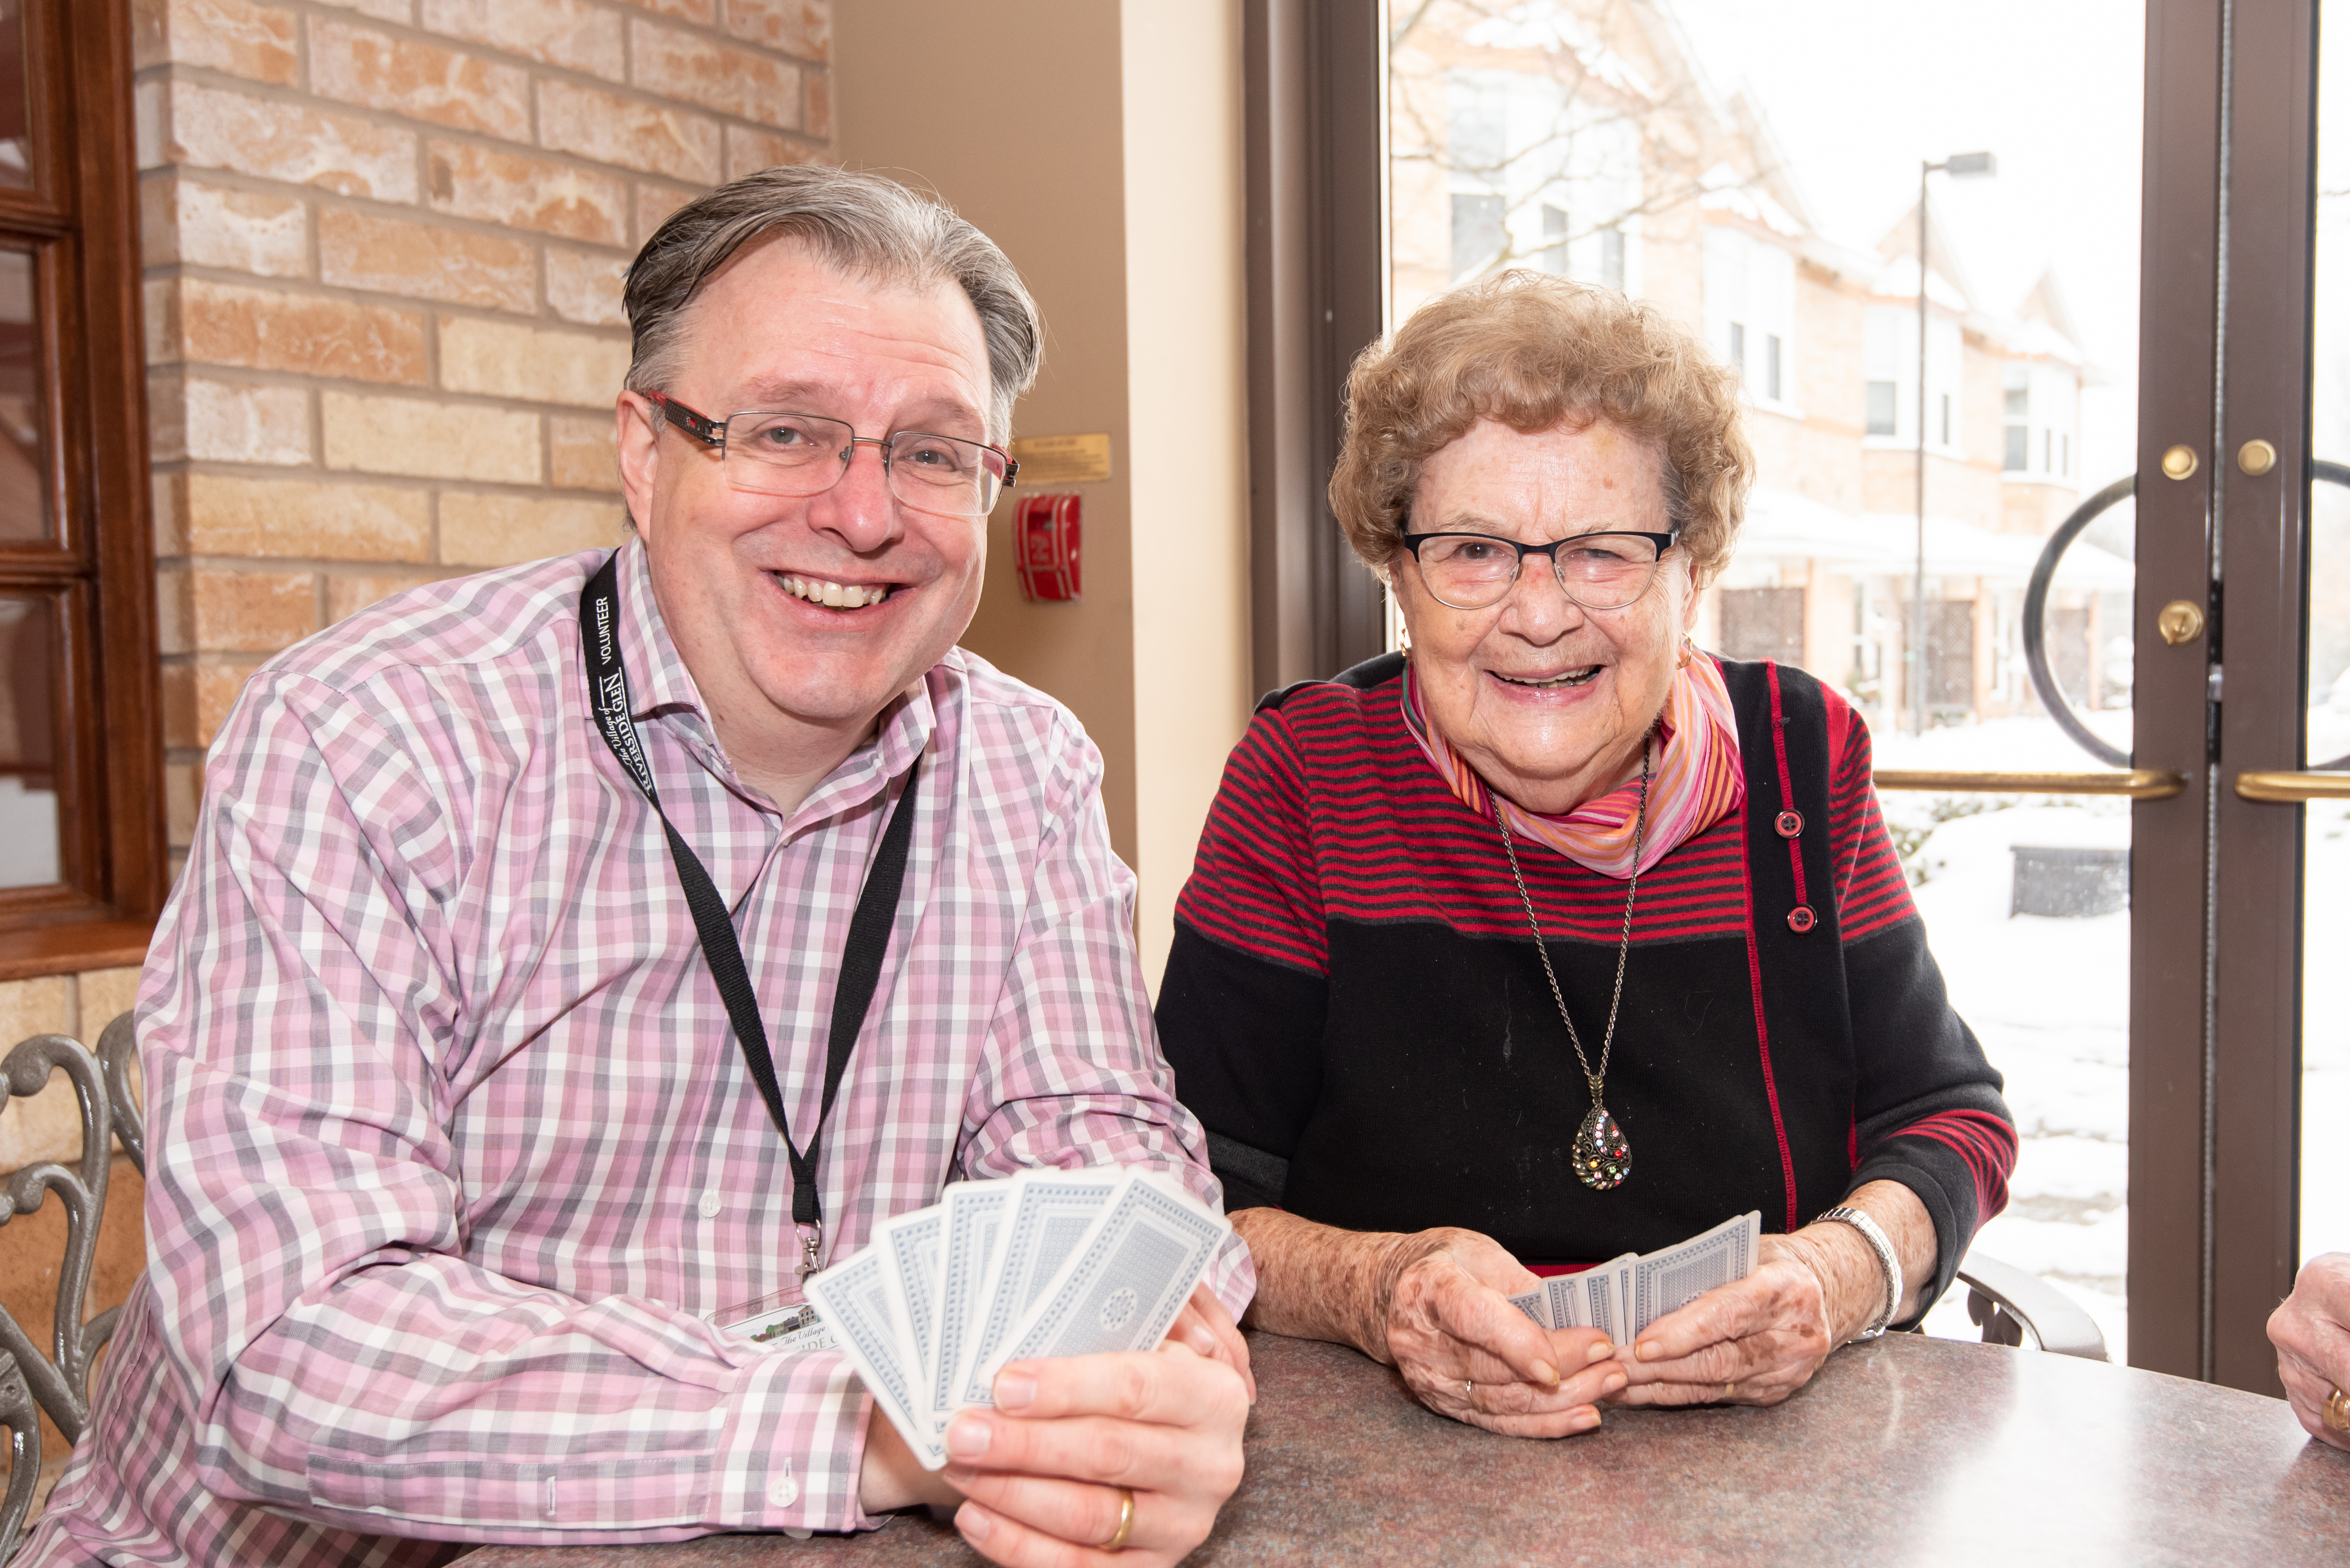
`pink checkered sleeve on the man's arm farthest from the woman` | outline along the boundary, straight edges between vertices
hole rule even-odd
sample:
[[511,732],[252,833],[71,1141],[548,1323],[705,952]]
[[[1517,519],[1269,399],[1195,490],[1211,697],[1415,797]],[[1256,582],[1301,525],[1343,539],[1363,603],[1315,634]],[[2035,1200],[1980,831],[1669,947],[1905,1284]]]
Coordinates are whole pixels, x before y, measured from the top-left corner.
[[867,1523],[837,1352],[465,1261],[475,866],[439,775],[371,704],[270,674],[212,758],[143,998],[153,1317],[202,1486],[465,1540]]

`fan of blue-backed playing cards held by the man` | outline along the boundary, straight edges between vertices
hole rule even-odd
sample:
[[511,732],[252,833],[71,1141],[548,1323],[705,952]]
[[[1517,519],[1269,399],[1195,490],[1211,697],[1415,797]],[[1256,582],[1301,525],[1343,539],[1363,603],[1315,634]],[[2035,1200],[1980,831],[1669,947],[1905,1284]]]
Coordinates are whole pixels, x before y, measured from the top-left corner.
[[1156,1350],[1231,1223],[1161,1171],[964,1181],[808,1279],[832,1340],[928,1469],[1006,1361]]

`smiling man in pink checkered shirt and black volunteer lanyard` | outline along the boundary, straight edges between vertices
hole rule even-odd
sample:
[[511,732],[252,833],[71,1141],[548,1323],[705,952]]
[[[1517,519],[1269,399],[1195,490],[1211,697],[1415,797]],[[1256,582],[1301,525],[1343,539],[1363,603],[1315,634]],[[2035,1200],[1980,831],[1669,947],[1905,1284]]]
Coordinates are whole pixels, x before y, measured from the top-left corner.
[[1100,756],[954,648],[1039,357],[1010,263],[771,169],[670,218],[627,307],[637,538],[385,601],[214,744],[139,995],[148,1272],[28,1561],[959,1502],[1001,1563],[1166,1563],[1238,1481],[1238,1244],[1166,1352],[1008,1366],[935,1476],[839,1352],[714,1326],[956,1176],[1217,1192]]

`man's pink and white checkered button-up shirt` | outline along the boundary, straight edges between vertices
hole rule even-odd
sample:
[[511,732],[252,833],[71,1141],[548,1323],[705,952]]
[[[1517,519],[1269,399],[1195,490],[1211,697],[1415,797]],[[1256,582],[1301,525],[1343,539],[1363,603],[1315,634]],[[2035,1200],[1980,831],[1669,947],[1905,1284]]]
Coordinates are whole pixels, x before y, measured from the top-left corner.
[[[872,1523],[872,1406],[839,1352],[705,1322],[797,1296],[792,1176],[590,718],[597,563],[402,594],[247,683],[139,993],[148,1272],[26,1563]],[[822,1136],[827,1263],[956,1176],[1159,1164],[1217,1202],[1069,711],[949,653],[780,815],[719,751],[644,549],[620,566],[639,732],[733,904],[799,1138],[848,915],[924,753]],[[1238,1314],[1248,1251],[1210,1282]]]

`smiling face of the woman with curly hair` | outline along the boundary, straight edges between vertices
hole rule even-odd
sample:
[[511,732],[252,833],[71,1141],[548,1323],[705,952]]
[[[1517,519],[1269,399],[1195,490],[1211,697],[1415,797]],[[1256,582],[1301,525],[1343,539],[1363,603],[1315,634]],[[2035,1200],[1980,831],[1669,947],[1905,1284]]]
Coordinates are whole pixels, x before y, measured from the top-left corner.
[[[1654,444],[1607,420],[1520,434],[1480,420],[1431,455],[1412,491],[1412,533],[1492,533],[1549,545],[1577,533],[1668,533]],[[1586,610],[1544,556],[1509,596],[1452,610],[1429,596],[1410,554],[1391,568],[1429,721],[1497,791],[1535,812],[1570,812],[1640,768],[1664,709],[1680,636],[1697,620],[1690,561],[1671,549],[1647,594]]]

